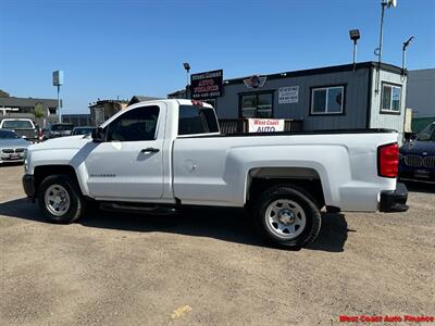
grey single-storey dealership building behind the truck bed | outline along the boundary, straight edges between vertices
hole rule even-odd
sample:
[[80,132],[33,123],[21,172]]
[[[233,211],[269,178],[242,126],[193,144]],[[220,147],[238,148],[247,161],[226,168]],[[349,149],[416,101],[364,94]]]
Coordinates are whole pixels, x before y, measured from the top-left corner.
[[[220,96],[209,98],[207,92],[196,93],[194,86],[189,97],[211,103],[221,126],[241,122],[246,130],[248,118],[278,118],[285,121],[286,130],[390,128],[403,133],[407,74],[390,64],[378,68],[377,62],[362,62],[224,79]],[[186,91],[167,97],[183,98]]]

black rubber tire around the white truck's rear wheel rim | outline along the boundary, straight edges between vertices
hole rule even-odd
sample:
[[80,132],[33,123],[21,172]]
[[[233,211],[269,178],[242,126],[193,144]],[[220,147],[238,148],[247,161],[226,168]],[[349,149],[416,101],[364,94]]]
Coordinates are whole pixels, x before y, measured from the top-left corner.
[[[300,234],[291,239],[288,238],[291,235],[279,236],[276,234],[278,231],[274,233],[272,223],[268,223],[270,221],[268,209],[279,200],[297,203],[304,213],[304,226],[299,226],[301,227],[301,230],[298,231]],[[253,218],[260,236],[269,243],[279,248],[301,248],[313,242],[319,235],[322,222],[320,209],[314,200],[302,189],[287,185],[274,186],[265,190],[253,205]]]

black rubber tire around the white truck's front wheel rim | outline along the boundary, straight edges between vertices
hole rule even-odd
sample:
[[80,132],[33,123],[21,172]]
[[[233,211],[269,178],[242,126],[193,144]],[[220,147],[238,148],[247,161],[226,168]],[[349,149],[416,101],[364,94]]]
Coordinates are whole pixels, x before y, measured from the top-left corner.
[[[69,205],[64,212],[60,211],[58,214],[53,214],[46,204],[45,198],[47,190],[57,185],[66,190]],[[38,203],[46,218],[52,223],[59,224],[73,223],[83,215],[85,209],[85,200],[80,190],[67,175],[51,175],[46,177],[38,189]]]

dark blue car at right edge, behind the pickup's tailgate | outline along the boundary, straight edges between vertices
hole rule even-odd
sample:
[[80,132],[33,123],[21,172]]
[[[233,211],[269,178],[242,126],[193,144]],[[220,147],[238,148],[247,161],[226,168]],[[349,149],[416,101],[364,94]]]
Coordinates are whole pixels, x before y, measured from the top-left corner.
[[400,148],[399,177],[435,181],[435,122]]

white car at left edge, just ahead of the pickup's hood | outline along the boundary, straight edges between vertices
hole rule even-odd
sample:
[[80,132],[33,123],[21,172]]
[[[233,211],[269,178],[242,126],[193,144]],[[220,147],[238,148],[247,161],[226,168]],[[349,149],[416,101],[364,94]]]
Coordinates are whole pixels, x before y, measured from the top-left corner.
[[23,162],[29,145],[14,131],[0,129],[0,164]]

